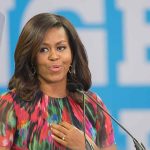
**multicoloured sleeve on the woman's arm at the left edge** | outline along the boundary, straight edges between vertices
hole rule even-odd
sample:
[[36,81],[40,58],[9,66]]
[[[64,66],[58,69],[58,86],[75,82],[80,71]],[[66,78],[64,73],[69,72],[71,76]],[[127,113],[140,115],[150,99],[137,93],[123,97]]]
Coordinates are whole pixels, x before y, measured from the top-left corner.
[[0,96],[0,146],[10,148],[16,130],[16,116],[10,93]]

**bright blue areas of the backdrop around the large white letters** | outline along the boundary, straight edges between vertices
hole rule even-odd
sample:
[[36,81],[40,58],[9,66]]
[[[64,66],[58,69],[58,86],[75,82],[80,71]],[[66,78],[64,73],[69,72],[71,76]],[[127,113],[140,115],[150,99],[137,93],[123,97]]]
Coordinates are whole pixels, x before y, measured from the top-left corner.
[[[10,38],[10,77],[14,71],[14,50],[20,34],[21,18],[24,10],[30,1],[16,0],[15,8],[9,12],[9,38]],[[150,110],[150,85],[143,86],[121,86],[117,83],[117,64],[124,59],[123,51],[123,16],[115,8],[114,0],[105,0],[106,22],[104,24],[86,24],[82,22],[76,12],[70,10],[59,10],[56,13],[66,16],[78,28],[86,29],[105,29],[107,31],[107,51],[108,51],[108,75],[109,82],[107,86],[92,86],[92,90],[97,92],[111,114],[119,120],[119,112],[122,109],[149,109]],[[146,12],[146,22],[150,23],[150,10]],[[4,33],[5,34],[5,33]],[[147,50],[147,61],[150,61],[150,49]],[[7,90],[7,87],[1,87],[0,93]],[[148,118],[150,120],[150,118]],[[115,129],[116,143],[119,150],[125,150],[127,147],[126,135],[120,133],[118,126],[113,123]],[[148,139],[150,146],[150,136]]]

